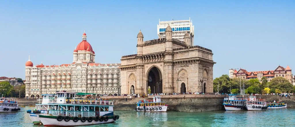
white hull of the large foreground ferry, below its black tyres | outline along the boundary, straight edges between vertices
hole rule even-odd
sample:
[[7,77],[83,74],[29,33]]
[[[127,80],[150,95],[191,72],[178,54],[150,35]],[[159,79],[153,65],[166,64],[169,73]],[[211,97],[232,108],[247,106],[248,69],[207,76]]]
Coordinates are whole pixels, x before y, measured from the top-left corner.
[[113,118],[109,118],[108,121],[94,121],[88,122],[87,120],[85,122],[81,122],[81,120],[74,122],[73,120],[70,120],[68,122],[62,120],[62,121],[57,121],[56,118],[47,118],[50,116],[42,115],[40,118],[40,121],[45,127],[56,127],[56,126],[81,126],[81,125],[94,125],[94,124],[101,124],[101,123],[112,123],[116,120]]

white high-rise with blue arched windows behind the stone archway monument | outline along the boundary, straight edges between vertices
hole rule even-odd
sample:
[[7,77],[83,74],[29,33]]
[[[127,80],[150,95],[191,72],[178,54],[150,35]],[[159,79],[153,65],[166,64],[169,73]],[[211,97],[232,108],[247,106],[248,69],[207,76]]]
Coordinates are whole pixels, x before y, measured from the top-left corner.
[[157,25],[159,38],[166,38],[165,30],[168,25],[170,25],[172,29],[173,39],[184,41],[184,35],[188,33],[190,35],[190,46],[194,46],[194,25],[191,18],[189,18],[189,20],[172,19],[172,21],[160,21],[159,19],[159,25]]

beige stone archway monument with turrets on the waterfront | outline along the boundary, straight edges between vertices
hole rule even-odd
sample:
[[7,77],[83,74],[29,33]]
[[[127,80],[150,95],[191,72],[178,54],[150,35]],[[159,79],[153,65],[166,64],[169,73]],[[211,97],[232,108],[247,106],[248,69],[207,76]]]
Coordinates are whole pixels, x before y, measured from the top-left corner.
[[213,53],[193,46],[190,35],[183,40],[172,38],[171,27],[165,38],[143,40],[137,35],[137,54],[122,56],[122,94],[213,92]]

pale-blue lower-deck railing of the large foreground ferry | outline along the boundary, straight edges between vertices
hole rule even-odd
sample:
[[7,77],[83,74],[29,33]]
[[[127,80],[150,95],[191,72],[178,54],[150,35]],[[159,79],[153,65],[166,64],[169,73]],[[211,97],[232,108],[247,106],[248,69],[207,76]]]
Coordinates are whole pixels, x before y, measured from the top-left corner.
[[95,117],[95,112],[88,111],[49,111],[49,115],[62,116],[77,116],[77,117]]

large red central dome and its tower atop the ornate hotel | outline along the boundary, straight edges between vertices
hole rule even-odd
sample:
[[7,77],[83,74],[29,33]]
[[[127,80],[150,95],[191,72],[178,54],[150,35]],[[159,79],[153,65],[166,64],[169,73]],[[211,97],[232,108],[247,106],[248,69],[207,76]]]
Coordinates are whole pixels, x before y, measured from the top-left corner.
[[95,54],[86,38],[87,36],[84,32],[82,35],[82,41],[77,45],[77,48],[73,52],[73,62],[94,63]]

